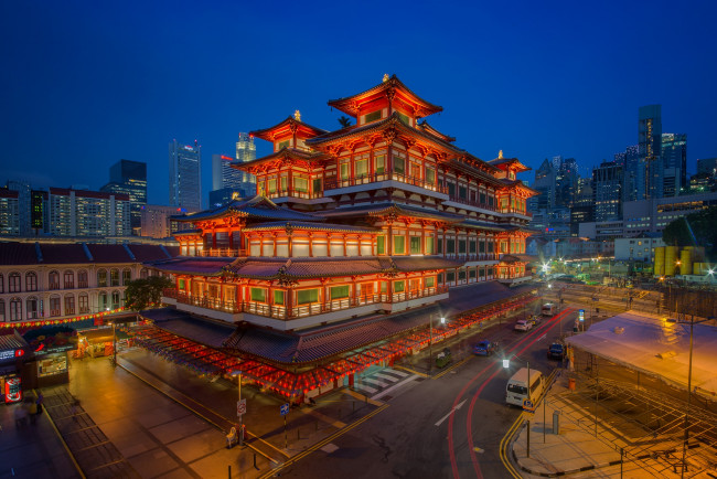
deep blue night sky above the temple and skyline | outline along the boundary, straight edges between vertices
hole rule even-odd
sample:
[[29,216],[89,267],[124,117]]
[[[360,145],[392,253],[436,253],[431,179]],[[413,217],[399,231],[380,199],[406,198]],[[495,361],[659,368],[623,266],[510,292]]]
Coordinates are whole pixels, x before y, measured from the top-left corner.
[[561,155],[585,175],[656,103],[663,131],[687,134],[689,173],[717,157],[714,1],[205,3],[2,2],[0,184],[97,190],[126,158],[167,204],[168,143],[197,139],[206,203],[212,153],[233,156],[239,131],[295,109],[335,129],[327,102],[384,73],[484,160]]

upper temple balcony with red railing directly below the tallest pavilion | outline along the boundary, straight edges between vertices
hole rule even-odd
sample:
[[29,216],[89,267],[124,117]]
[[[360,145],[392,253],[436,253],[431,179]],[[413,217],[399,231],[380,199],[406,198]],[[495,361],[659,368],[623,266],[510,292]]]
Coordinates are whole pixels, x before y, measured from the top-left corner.
[[409,177],[402,173],[374,173],[355,178],[327,179],[324,194],[335,195],[344,193],[356,193],[366,190],[385,188],[397,188],[418,194],[448,200],[447,190],[435,182],[428,182],[421,178]]

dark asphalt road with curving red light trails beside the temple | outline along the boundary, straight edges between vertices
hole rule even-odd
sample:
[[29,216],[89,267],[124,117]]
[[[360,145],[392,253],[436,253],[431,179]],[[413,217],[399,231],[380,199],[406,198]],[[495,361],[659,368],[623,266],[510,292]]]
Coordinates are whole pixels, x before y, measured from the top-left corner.
[[[493,356],[468,356],[440,376],[393,391],[389,407],[281,470],[281,477],[506,477],[499,446],[521,413],[504,403],[506,381],[526,361],[549,374],[558,364],[546,359],[547,347],[557,339],[559,320],[564,329],[571,327],[576,313],[544,320],[528,332],[513,331],[522,317],[451,345],[468,348],[479,338],[499,341],[501,351]],[[504,356],[512,358],[510,369],[502,366]]]

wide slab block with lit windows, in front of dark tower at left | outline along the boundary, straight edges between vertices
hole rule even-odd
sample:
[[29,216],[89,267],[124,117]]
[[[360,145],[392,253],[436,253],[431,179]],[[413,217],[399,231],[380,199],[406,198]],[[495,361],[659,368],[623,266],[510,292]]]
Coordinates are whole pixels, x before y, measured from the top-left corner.
[[50,189],[50,227],[54,236],[129,236],[129,195],[65,188]]

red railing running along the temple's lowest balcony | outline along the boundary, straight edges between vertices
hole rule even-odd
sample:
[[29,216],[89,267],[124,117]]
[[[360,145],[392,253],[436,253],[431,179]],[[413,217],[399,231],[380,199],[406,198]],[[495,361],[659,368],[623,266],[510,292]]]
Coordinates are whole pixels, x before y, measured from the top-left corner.
[[188,295],[185,292],[180,292],[175,289],[164,289],[163,296],[165,298],[172,298],[176,300],[176,302],[181,302],[183,305],[191,305],[200,308],[213,309],[215,311],[229,312],[233,315],[239,312],[248,312],[267,318],[288,319],[321,315],[331,311],[340,311],[343,309],[357,308],[365,305],[403,302],[410,299],[426,298],[443,292],[448,292],[448,286],[437,286],[434,288],[425,288],[422,290],[406,292],[394,292],[393,295],[385,292],[375,295],[358,295],[355,298],[342,298],[324,302],[297,305],[292,307],[291,310],[288,310],[285,305],[267,305],[257,301],[232,301],[218,298],[197,297]]

